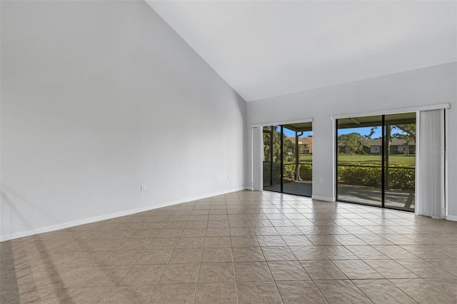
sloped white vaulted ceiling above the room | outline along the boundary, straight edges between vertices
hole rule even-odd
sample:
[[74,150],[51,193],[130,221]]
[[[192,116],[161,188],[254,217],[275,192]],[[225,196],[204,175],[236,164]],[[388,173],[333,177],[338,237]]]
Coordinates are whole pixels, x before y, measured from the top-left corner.
[[151,1],[246,101],[457,61],[457,1]]

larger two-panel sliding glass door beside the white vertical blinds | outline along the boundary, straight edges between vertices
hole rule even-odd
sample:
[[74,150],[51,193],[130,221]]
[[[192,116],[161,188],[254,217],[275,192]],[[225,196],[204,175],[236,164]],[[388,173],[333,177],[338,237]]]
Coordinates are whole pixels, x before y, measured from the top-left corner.
[[414,210],[416,113],[338,119],[337,200]]

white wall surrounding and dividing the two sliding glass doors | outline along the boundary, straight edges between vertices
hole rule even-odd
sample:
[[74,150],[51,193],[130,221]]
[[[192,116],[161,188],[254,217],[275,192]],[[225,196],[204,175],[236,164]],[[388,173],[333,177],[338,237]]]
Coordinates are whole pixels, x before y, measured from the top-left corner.
[[[332,115],[451,103],[448,110],[448,213],[457,220],[457,63],[432,66],[248,103],[251,125],[313,118],[313,197],[334,199]],[[251,141],[251,137],[248,136]],[[251,147],[251,143],[248,144]],[[252,150],[248,151],[252,160]],[[251,178],[248,163],[246,178]],[[324,179],[320,183],[321,178]],[[318,182],[316,182],[318,181]]]

